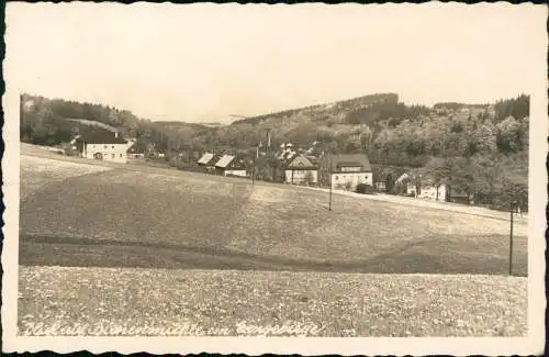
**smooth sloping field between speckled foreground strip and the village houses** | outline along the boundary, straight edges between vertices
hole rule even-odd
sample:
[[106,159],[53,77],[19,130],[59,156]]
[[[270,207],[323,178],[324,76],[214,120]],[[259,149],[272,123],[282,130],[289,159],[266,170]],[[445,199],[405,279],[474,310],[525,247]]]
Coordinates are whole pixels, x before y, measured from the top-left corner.
[[[21,164],[23,265],[507,271],[502,220],[345,196],[330,212],[326,194],[311,190],[123,166],[67,171],[68,163],[54,159],[34,171],[32,160]],[[526,242],[519,223],[516,275],[527,271]]]

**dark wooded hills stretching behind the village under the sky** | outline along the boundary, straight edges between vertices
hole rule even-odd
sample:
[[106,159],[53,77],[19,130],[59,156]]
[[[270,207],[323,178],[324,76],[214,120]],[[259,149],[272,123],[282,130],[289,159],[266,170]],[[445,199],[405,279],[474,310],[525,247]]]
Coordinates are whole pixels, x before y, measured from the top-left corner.
[[[508,192],[527,187],[529,97],[525,94],[495,103],[446,102],[429,108],[406,105],[395,93],[376,93],[219,127],[155,122],[108,104],[30,94],[21,96],[21,141],[40,145],[58,145],[78,133],[105,130],[83,123],[90,121],[168,155],[212,149],[250,155],[256,145],[266,143],[269,132],[273,147],[291,142],[306,148],[318,142],[326,152],[367,153],[374,166],[386,168],[378,177],[390,168],[412,170],[451,183],[488,204],[503,205]],[[517,194],[525,200],[524,192]]]

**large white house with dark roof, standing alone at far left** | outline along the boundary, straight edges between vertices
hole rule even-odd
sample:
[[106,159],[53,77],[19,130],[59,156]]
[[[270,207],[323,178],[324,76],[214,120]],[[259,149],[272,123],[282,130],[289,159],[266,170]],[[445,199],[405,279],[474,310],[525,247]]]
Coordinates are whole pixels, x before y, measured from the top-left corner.
[[83,158],[127,163],[127,142],[117,132],[94,132],[78,136],[75,147]]

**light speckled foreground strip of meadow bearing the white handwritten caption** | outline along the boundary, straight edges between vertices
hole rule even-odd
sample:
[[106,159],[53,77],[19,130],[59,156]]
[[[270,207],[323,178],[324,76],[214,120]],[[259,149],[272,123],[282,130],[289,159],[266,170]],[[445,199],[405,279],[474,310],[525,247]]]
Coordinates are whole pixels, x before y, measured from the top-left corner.
[[22,335],[527,332],[516,277],[21,267],[20,285]]

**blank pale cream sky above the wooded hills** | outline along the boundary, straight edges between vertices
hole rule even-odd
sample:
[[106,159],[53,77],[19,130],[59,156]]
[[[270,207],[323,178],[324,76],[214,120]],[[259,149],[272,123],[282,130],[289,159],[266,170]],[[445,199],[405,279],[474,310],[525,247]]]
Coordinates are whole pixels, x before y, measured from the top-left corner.
[[539,82],[546,18],[508,3],[10,2],[4,76],[22,92],[187,122],[376,92],[493,102]]

